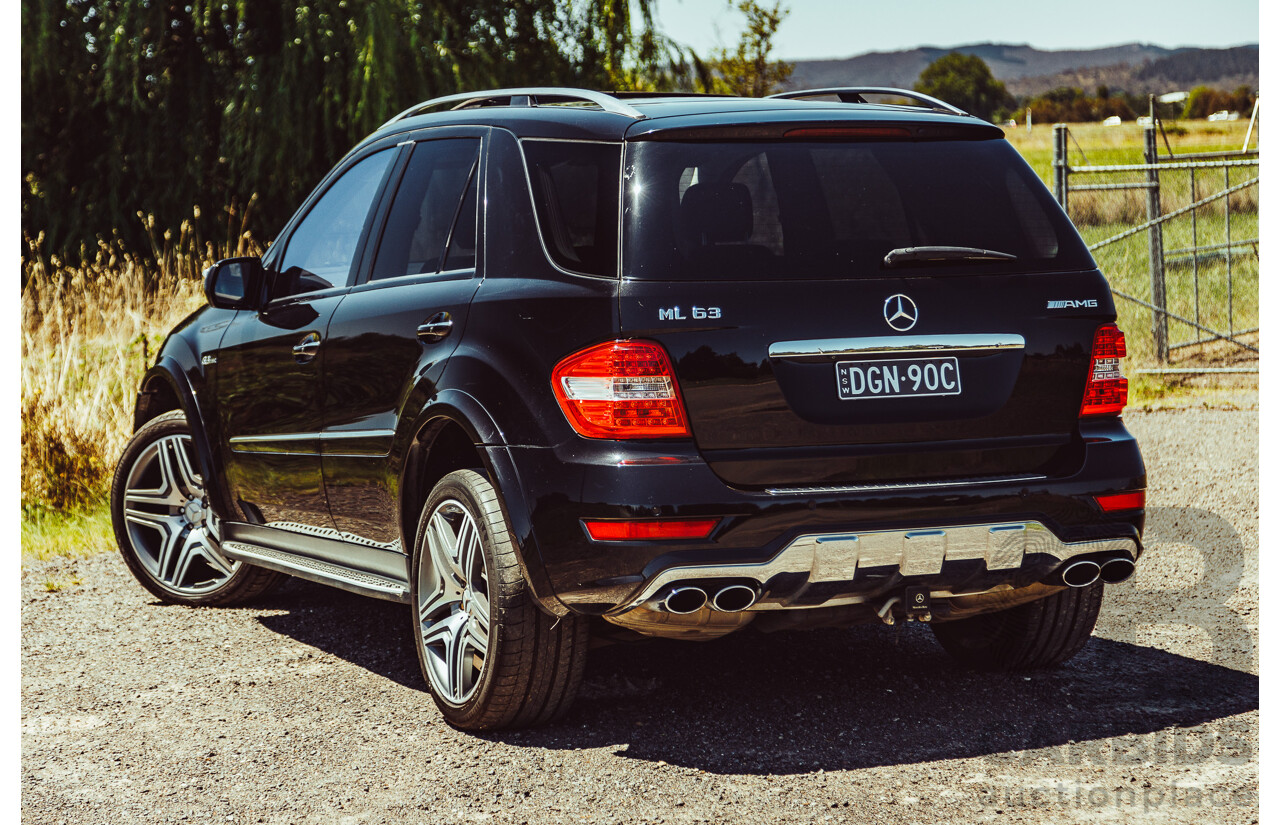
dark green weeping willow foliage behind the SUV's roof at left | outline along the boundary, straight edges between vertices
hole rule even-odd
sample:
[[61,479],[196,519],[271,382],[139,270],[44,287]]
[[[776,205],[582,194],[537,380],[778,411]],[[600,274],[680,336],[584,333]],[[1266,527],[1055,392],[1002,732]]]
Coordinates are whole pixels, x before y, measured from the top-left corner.
[[[652,0],[23,0],[23,232],[74,257],[248,208],[269,239],[356,141],[429,97],[650,88],[691,61]],[[637,13],[636,13],[637,12]],[[193,207],[201,207],[196,219]],[[238,230],[239,221],[236,223]]]

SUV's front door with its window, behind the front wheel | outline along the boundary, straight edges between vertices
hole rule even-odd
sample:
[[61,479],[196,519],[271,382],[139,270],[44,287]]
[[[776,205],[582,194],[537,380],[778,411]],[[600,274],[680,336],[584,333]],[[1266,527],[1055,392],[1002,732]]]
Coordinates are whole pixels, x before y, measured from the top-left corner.
[[250,523],[333,532],[320,468],[324,340],[396,156],[394,147],[374,151],[323,184],[283,252],[264,262],[264,307],[239,312],[223,339],[220,441],[238,515]]

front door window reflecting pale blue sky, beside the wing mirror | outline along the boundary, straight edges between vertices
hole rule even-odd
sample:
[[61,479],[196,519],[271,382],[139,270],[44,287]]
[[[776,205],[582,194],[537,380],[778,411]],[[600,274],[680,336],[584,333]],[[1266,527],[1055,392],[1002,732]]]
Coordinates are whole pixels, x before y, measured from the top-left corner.
[[273,298],[347,283],[378,187],[394,157],[393,148],[374,152],[344,171],[320,196],[289,235],[284,260],[271,284]]

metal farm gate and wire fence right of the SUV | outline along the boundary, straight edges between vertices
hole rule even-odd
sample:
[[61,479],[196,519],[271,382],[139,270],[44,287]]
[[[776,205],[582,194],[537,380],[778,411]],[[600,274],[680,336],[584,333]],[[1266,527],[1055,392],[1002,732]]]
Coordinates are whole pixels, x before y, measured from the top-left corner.
[[1053,194],[1111,281],[1130,356],[1165,372],[1256,371],[1258,151],[1175,155],[1157,122],[1137,160],[1089,164],[1053,127]]

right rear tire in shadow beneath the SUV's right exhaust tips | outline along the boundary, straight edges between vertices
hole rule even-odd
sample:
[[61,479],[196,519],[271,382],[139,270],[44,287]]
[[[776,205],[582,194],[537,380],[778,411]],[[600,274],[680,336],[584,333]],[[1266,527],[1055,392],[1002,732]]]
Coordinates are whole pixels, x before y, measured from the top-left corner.
[[1102,609],[1102,582],[959,622],[931,624],[952,659],[979,670],[1033,670],[1080,652]]

